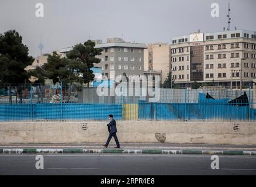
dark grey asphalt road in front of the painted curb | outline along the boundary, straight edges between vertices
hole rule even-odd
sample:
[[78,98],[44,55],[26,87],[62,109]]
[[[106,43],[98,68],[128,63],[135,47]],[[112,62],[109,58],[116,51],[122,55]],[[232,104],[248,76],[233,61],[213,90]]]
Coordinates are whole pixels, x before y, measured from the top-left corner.
[[0,155],[0,175],[256,175],[256,157],[219,155],[36,154]]

